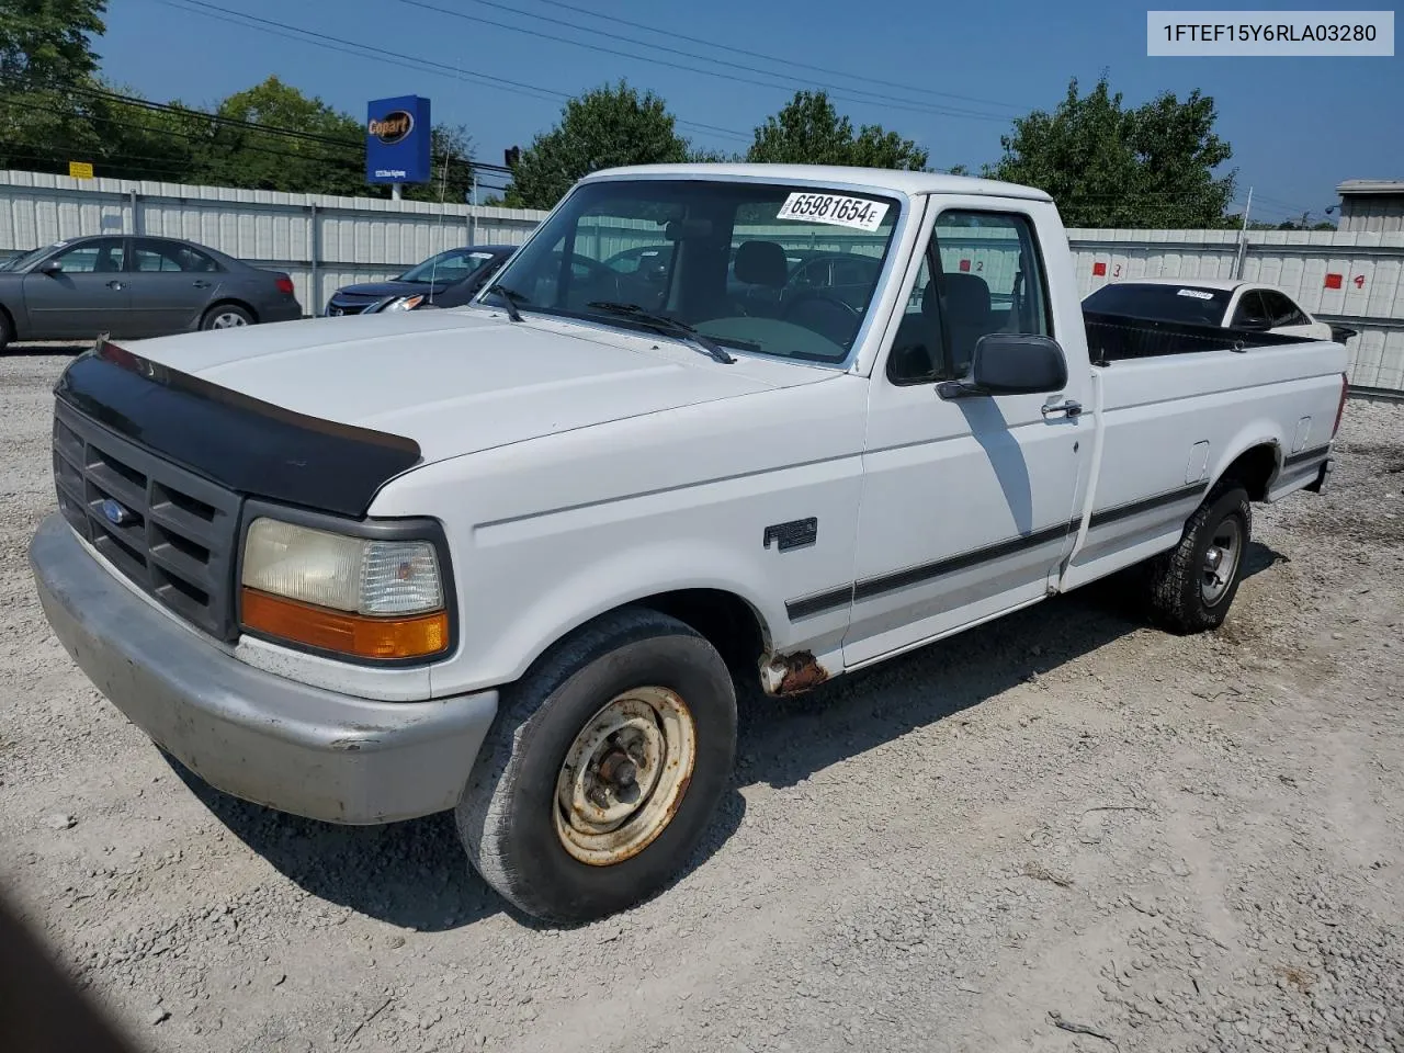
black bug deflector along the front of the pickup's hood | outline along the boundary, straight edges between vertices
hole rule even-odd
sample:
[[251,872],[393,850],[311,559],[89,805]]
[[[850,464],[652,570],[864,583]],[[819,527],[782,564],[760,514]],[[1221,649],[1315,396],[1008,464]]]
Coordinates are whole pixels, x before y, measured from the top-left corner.
[[79,413],[229,490],[362,517],[413,439],[285,410],[100,338],[53,386]]

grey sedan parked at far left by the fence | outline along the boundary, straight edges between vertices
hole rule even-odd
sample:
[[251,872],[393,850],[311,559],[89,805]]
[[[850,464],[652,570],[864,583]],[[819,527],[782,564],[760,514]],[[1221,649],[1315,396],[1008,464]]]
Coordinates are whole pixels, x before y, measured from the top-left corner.
[[0,264],[0,347],[300,317],[286,274],[170,237],[74,237]]

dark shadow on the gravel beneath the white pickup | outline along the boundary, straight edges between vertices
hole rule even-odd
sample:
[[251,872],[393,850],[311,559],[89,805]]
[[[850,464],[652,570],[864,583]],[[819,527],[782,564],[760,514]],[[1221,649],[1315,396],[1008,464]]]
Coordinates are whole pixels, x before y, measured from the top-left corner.
[[[1248,577],[1286,557],[1254,542],[1245,559]],[[733,788],[675,882],[710,859],[741,826],[746,799],[740,786],[793,786],[1144,629],[1133,590],[1127,576],[1116,576],[809,695],[771,699],[760,696],[758,688],[743,688]],[[230,797],[174,758],[167,761],[236,837],[319,899],[421,932],[461,928],[503,911],[524,927],[548,928],[510,908],[470,869],[452,813],[375,827],[319,823]]]

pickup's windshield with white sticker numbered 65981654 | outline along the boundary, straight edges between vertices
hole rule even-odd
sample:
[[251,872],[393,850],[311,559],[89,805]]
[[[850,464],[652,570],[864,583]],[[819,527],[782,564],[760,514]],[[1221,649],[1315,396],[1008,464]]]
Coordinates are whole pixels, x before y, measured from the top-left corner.
[[792,184],[587,183],[494,285],[522,312],[646,330],[629,306],[729,348],[841,362],[899,212],[892,197]]

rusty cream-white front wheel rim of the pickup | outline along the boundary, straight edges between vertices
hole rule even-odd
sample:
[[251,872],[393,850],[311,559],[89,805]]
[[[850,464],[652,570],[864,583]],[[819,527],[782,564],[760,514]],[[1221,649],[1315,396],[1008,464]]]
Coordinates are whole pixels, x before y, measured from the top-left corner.
[[661,834],[692,781],[696,724],[667,688],[616,695],[576,736],[556,778],[556,834],[570,855],[611,866]]

